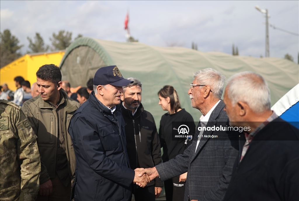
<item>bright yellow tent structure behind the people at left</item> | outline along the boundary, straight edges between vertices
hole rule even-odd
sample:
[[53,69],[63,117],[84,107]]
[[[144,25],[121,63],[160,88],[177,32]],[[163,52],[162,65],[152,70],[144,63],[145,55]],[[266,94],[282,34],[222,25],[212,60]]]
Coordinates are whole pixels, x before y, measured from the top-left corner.
[[6,83],[10,90],[16,90],[13,81],[16,76],[22,76],[32,84],[36,82],[36,71],[39,67],[52,63],[59,66],[64,53],[65,50],[25,54],[0,69],[0,85]]

